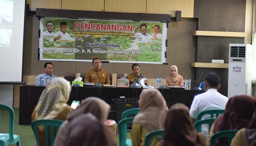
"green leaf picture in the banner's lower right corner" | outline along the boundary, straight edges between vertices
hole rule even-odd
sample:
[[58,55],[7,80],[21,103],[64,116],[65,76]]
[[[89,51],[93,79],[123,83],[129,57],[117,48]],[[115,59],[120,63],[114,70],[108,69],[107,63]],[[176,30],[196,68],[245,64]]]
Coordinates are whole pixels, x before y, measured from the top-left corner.
[[142,55],[139,55],[138,61],[145,62],[161,62],[162,52],[143,51]]

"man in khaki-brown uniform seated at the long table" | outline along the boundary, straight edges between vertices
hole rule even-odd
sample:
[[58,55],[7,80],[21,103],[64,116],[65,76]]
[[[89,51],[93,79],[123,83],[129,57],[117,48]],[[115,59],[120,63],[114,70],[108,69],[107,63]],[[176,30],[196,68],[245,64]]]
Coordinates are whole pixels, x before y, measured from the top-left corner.
[[108,72],[101,68],[101,59],[94,58],[93,67],[93,69],[86,73],[84,82],[94,82],[95,84],[100,83],[110,85]]

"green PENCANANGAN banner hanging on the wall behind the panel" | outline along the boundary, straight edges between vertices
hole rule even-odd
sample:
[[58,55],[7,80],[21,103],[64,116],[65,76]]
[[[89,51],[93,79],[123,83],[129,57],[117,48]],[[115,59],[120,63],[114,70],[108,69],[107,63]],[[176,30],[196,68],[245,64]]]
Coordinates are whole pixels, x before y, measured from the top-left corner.
[[165,62],[166,23],[42,18],[40,60]]

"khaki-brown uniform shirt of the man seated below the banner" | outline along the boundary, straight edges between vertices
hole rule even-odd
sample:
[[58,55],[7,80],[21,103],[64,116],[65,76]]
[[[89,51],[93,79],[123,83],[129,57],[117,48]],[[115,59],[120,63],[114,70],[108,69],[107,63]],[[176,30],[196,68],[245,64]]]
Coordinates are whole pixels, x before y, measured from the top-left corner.
[[86,73],[84,82],[94,82],[95,84],[108,84],[110,83],[110,78],[106,70],[100,69],[98,72],[95,68],[93,68]]

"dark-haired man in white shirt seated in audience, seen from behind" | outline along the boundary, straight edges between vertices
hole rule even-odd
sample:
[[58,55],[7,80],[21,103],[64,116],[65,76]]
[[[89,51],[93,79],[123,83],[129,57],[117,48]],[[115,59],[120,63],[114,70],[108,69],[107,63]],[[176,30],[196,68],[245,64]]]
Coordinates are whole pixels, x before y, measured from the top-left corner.
[[[196,121],[197,115],[201,111],[214,109],[225,110],[229,99],[218,92],[219,88],[221,88],[219,82],[220,78],[217,73],[209,73],[204,78],[205,92],[194,97],[189,110],[189,116],[193,122]],[[202,119],[207,118],[210,118],[210,115],[204,115],[202,117]],[[208,137],[208,125],[202,125],[202,133]]]

